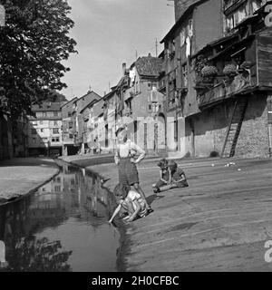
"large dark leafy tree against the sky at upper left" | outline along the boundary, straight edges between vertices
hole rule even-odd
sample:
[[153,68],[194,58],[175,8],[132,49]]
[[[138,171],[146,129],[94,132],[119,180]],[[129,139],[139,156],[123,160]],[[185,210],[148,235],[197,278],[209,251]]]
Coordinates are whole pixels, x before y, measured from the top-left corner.
[[30,113],[48,93],[66,87],[63,65],[76,53],[69,36],[73,20],[65,0],[1,0],[6,26],[0,28],[0,108],[5,98],[15,117]]

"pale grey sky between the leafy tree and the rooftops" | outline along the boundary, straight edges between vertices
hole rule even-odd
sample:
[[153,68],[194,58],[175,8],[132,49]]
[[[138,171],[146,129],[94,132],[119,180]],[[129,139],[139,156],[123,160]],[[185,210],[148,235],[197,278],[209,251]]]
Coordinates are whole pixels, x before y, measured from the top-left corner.
[[68,0],[75,25],[71,36],[78,54],[64,64],[71,68],[63,82],[68,100],[83,96],[91,87],[101,95],[121,78],[122,63],[131,66],[139,56],[156,55],[161,39],[174,24],[169,0]]

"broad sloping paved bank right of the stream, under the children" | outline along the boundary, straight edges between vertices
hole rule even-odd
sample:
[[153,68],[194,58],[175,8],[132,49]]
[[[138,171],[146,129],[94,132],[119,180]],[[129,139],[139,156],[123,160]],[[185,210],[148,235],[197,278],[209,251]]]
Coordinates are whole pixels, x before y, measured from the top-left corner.
[[[92,160],[73,161],[92,165]],[[228,162],[235,165],[227,167]],[[155,209],[127,229],[127,271],[271,271],[264,247],[272,239],[272,160],[182,160],[188,189],[152,193],[155,160],[139,166],[141,186]],[[114,164],[89,166],[109,189]]]

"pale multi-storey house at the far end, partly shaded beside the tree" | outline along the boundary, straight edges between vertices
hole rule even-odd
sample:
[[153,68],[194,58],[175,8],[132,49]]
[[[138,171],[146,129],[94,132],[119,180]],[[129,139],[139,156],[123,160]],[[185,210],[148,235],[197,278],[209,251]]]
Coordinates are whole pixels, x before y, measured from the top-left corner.
[[28,153],[30,156],[62,155],[62,102],[43,102],[32,107],[28,116]]

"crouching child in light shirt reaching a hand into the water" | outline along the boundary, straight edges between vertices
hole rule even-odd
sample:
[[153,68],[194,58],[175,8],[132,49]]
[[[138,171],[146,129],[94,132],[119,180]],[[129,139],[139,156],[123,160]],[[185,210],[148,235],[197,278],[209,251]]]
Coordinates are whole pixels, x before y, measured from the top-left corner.
[[148,214],[148,208],[141,198],[141,194],[130,190],[130,187],[126,185],[121,186],[119,184],[115,187],[113,193],[119,206],[115,209],[112,218],[109,220],[110,223],[112,223],[112,220],[120,213],[121,208],[129,213],[129,216],[126,217],[129,222],[136,218],[145,217]]

